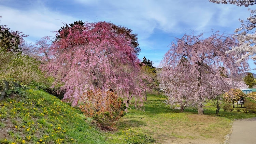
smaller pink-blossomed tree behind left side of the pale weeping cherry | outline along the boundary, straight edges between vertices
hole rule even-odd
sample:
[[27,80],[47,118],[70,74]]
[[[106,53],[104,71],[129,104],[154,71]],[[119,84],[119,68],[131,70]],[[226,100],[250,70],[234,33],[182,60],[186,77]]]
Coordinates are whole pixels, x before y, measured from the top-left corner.
[[196,76],[187,74],[187,64],[186,58],[181,57],[177,67],[165,67],[160,73],[160,87],[168,97],[167,103],[173,108],[179,106],[181,112],[184,112],[187,106],[195,104],[194,98],[191,97],[195,91],[191,86],[195,84]]

